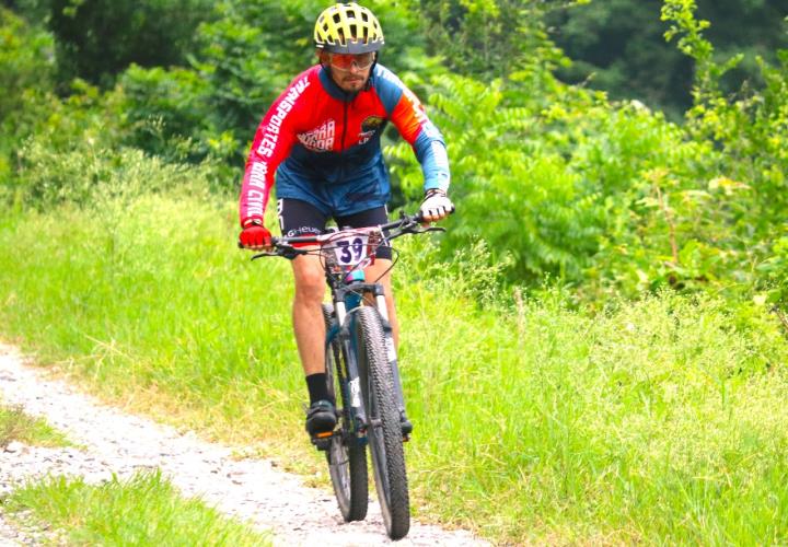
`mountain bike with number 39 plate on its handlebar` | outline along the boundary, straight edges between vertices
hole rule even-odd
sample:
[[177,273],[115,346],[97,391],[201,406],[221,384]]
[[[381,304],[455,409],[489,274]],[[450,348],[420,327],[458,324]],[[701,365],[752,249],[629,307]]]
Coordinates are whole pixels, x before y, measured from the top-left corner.
[[[417,214],[393,222],[343,229],[320,235],[274,237],[264,256],[293,259],[316,255],[325,270],[331,303],[323,304],[328,393],[337,410],[334,431],[312,442],[326,453],[339,511],[346,522],[367,516],[367,445],[386,533],[401,539],[410,527],[410,503],[404,441],[410,422],[399,379],[383,286],[368,283],[364,268],[381,245],[406,234],[443,231],[424,226]],[[395,252],[395,249],[392,249]],[[392,267],[395,263],[392,264]]]

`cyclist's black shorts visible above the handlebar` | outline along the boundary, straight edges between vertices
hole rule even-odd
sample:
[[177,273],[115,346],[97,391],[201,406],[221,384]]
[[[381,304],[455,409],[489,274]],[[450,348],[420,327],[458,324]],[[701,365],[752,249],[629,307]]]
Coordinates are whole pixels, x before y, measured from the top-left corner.
[[[301,201],[300,199],[279,199],[277,201],[277,213],[279,214],[279,228],[286,237],[299,235],[318,235],[325,232],[326,224],[331,219],[315,206]],[[385,224],[389,222],[389,211],[385,206],[375,207],[366,211],[334,217],[338,228],[367,228]],[[387,245],[381,245],[375,253],[378,258],[391,260],[392,251]]]

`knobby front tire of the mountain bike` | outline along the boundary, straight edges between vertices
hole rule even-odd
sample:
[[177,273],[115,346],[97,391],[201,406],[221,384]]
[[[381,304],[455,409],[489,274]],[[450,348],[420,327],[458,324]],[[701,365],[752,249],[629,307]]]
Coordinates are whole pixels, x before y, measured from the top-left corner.
[[378,310],[364,306],[356,313],[355,336],[375,489],[386,533],[397,540],[410,528],[410,501],[394,375]]

